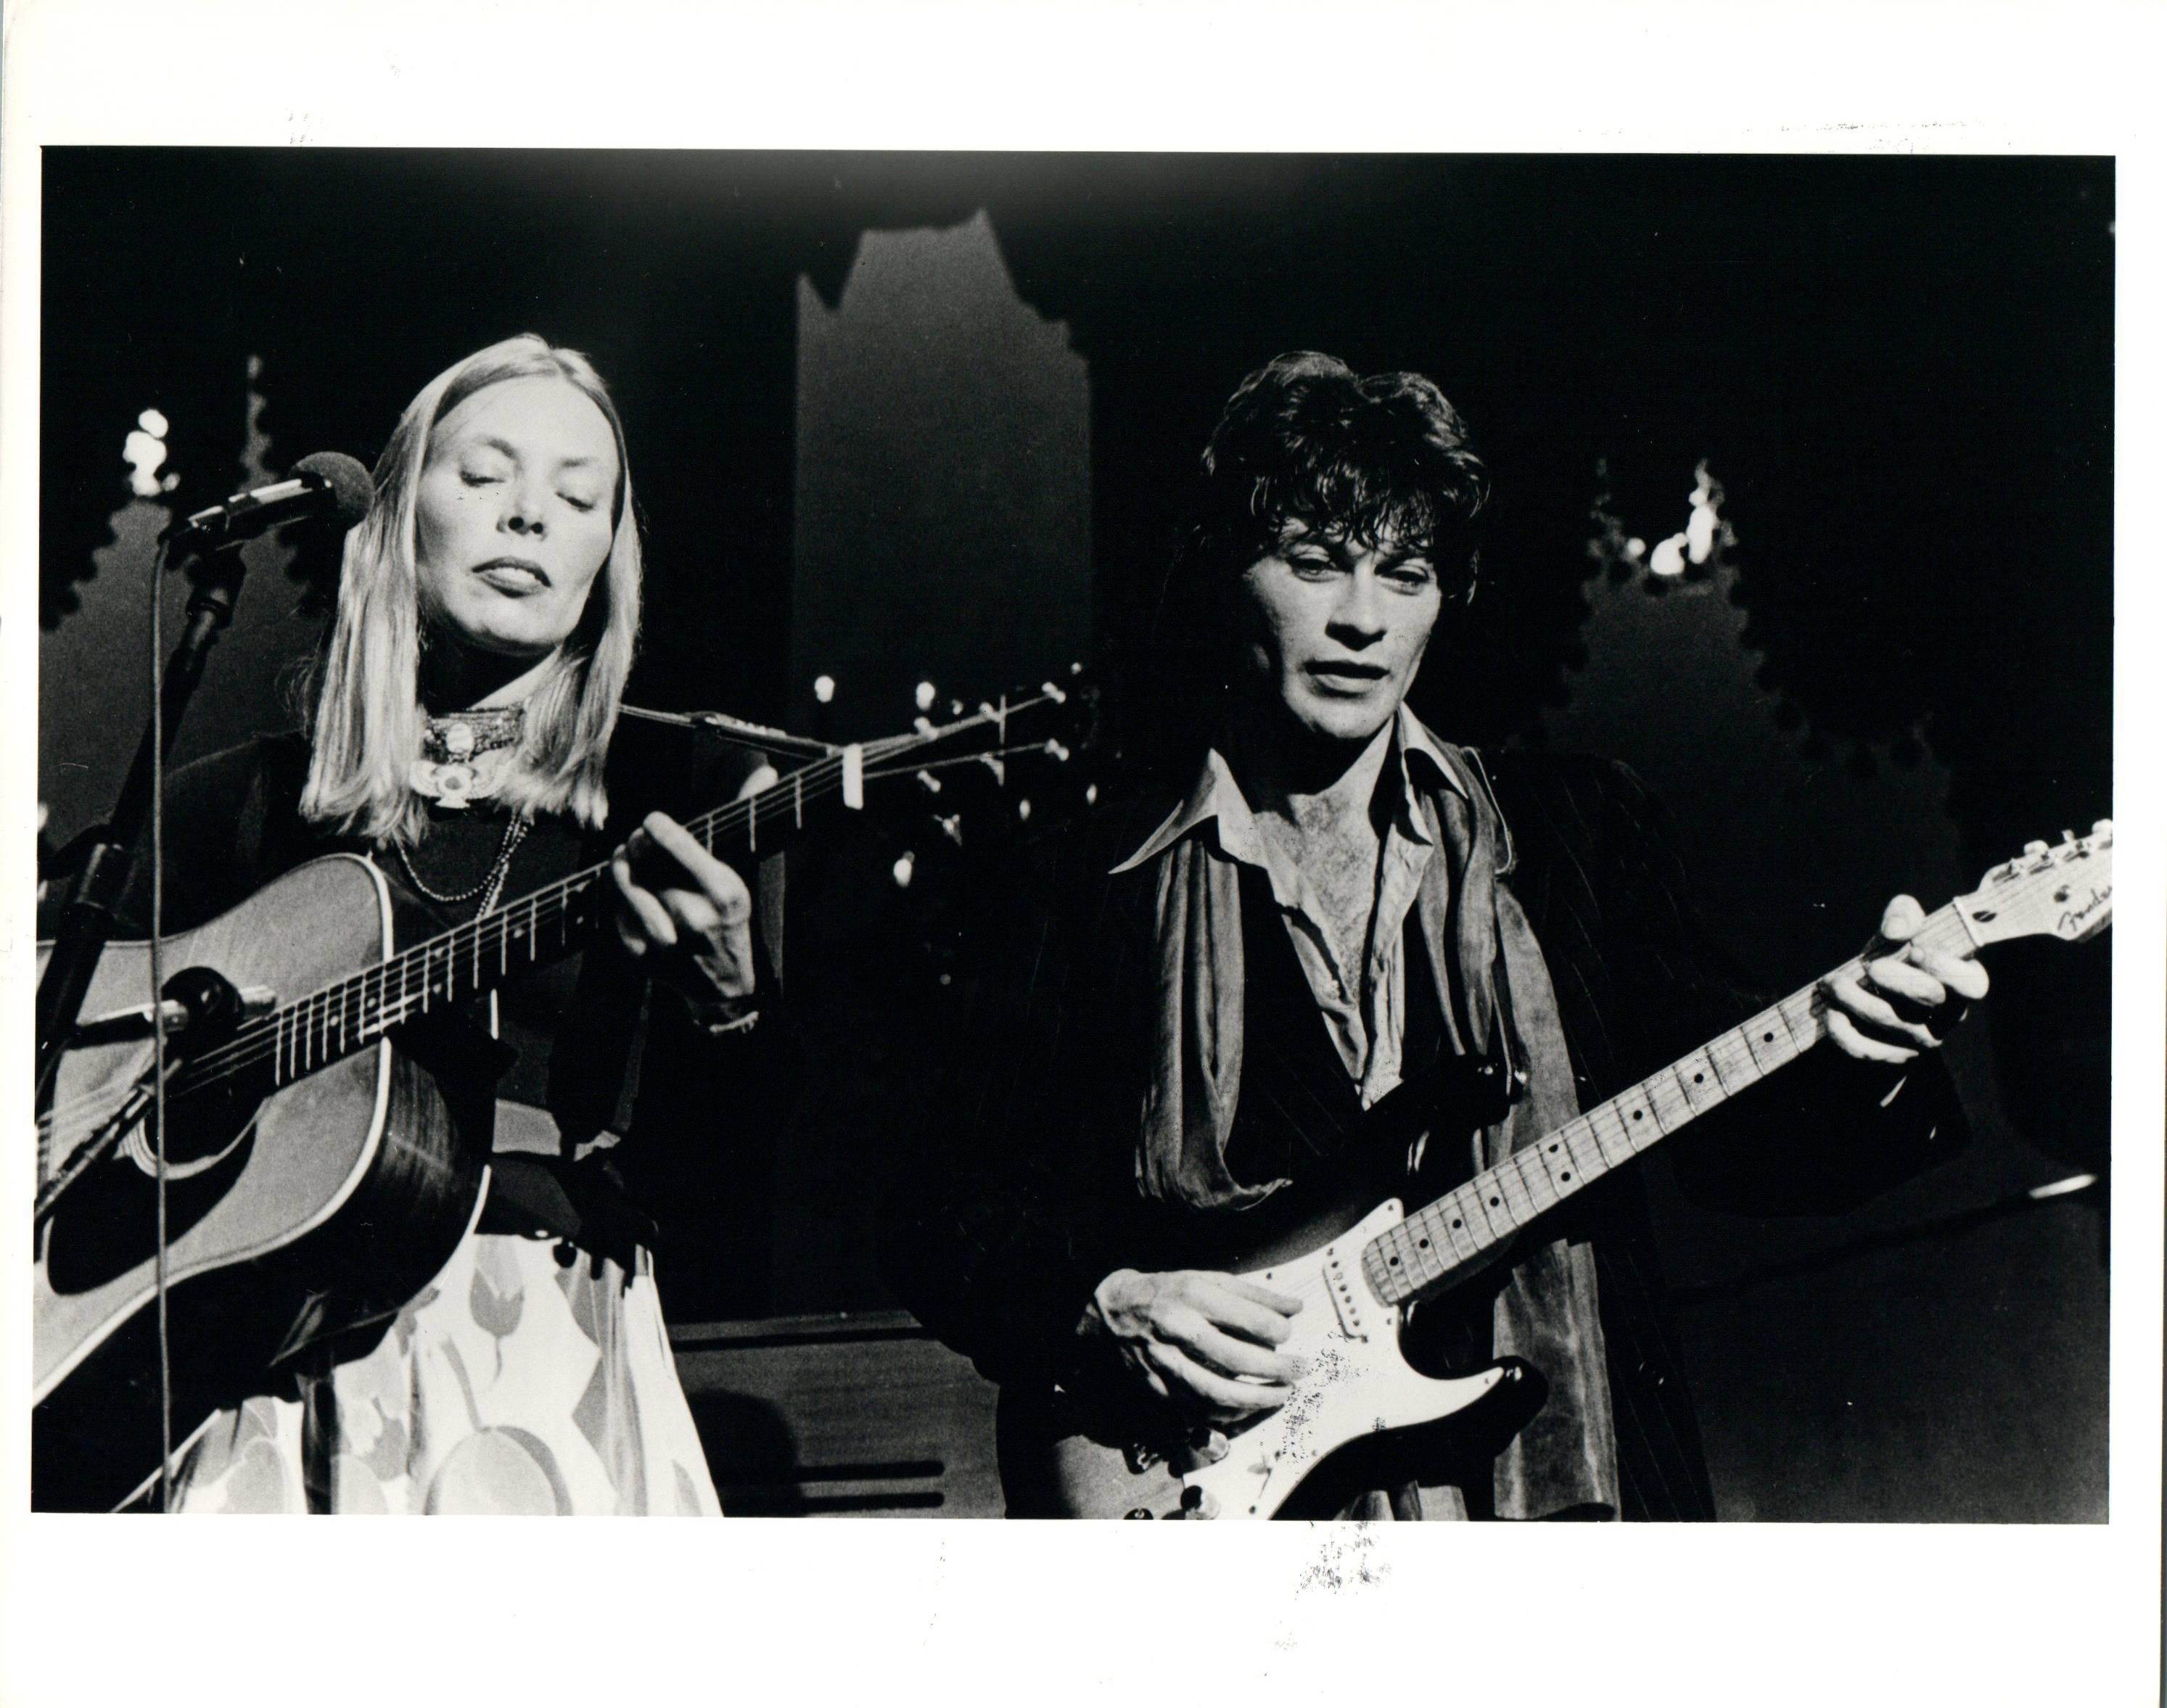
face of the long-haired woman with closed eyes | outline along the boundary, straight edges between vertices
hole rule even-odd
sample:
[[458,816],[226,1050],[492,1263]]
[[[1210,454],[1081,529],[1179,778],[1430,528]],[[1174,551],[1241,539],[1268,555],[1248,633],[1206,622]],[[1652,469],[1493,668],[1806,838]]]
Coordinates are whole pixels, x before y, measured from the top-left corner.
[[423,613],[540,659],[579,626],[618,531],[618,440],[566,379],[505,379],[444,416],[414,503]]

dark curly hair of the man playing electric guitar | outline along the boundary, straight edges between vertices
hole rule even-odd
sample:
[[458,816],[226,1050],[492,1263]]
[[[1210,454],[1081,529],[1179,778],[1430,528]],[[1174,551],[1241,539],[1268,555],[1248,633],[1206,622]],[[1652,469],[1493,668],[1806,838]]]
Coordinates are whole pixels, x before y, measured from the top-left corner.
[[1235,386],[1203,455],[1188,553],[1207,579],[1244,570],[1289,522],[1430,559],[1448,600],[1476,585],[1489,473],[1467,425],[1419,373],[1367,379],[1335,355],[1274,355]]

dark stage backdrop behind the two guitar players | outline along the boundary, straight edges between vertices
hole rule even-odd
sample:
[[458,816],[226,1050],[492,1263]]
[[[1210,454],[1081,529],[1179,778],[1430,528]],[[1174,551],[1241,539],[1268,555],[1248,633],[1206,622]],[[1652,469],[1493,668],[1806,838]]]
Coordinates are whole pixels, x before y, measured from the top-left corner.
[[[1931,906],[2111,811],[2113,189],[2072,158],[48,150],[52,839],[102,811],[143,715],[154,529],[119,462],[143,407],[173,423],[165,503],[189,509],[308,451],[371,462],[431,373],[542,332],[626,414],[652,566],[635,698],[869,735],[908,720],[919,668],[979,694],[1081,637],[1114,780],[1151,750],[1125,689],[1196,451],[1248,368],[1318,347],[1437,377],[1495,475],[1484,585],[1424,715],[1638,765],[1710,915],[1805,982],[1890,893]],[[906,290],[808,420],[832,377],[810,306],[871,325],[865,234],[921,228],[947,234],[908,262],[925,303],[999,297],[992,245],[1014,306],[936,336]],[[808,479],[830,457],[860,473]],[[1703,464],[1731,531],[1710,564],[1658,581],[1604,546],[1684,529]],[[314,633],[295,607],[327,555],[260,557],[189,752],[277,724]],[[945,626],[973,585],[1025,616]],[[830,655],[856,670],[817,707]],[[748,1186],[713,1218],[743,1261],[678,1316],[886,1303],[873,1183],[1005,834],[943,856],[923,817],[882,819],[793,861],[813,1069],[737,1140]],[[904,847],[910,891],[886,878]],[[1781,1225],[1705,1216],[1656,1173],[1727,1515],[2104,1517],[2104,1188],[1978,1212],[2106,1175],[2106,949],[1994,973],[1950,1049],[1963,1160]]]

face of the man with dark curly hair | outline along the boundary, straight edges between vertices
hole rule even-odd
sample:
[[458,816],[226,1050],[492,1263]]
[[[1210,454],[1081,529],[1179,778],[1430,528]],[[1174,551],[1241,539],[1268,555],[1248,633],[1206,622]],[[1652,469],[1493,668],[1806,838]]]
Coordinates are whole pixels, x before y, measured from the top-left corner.
[[1242,681],[1253,707],[1359,746],[1415,683],[1441,605],[1437,570],[1389,533],[1376,546],[1289,522],[1242,572]]

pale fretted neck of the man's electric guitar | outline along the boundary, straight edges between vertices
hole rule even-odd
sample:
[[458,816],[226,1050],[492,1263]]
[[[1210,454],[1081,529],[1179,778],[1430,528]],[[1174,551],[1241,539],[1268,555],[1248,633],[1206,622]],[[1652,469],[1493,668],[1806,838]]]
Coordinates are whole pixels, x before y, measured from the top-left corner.
[[[1976,943],[1959,906],[1926,917],[1911,939],[1926,949],[1970,954]],[[1666,1136],[1747,1086],[1796,1062],[1827,1036],[1820,988],[1864,971],[1846,960],[1822,980],[1734,1025],[1666,1069],[1597,1103],[1534,1144],[1513,1151],[1465,1186],[1417,1209],[1363,1248],[1363,1274],[1387,1305],[1402,1305],[1445,1277],[1497,1251],[1528,1222],[1556,1209],[1612,1168],[1645,1155]]]

